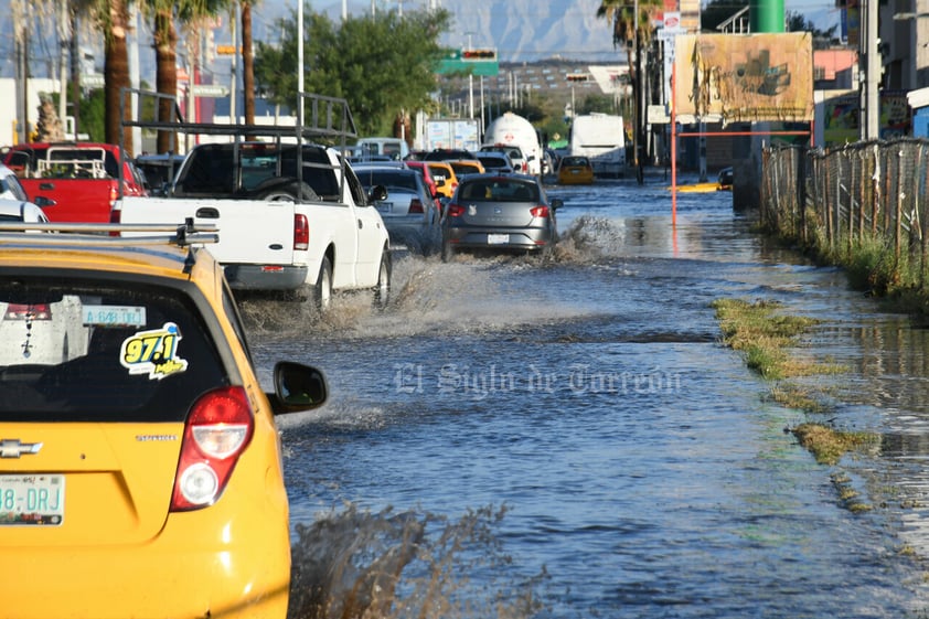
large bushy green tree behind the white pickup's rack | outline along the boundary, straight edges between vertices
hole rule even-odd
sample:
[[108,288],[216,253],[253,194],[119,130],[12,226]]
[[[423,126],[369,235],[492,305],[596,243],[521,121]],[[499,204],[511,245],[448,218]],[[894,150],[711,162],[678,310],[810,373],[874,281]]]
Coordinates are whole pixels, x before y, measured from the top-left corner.
[[[448,31],[445,10],[348,18],[337,25],[327,15],[305,19],[305,88],[344,97],[363,135],[389,134],[403,111],[431,104],[436,66],[445,56],[438,39]],[[297,100],[296,20],[281,20],[279,45],[258,43],[255,82],[270,100]]]

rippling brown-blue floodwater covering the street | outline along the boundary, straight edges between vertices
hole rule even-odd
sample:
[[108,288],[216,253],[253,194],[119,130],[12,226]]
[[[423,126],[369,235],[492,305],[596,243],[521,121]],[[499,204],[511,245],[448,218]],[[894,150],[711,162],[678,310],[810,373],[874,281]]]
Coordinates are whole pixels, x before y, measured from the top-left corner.
[[[265,375],[331,386],[280,419],[291,617],[929,613],[926,332],[727,192],[679,194],[672,223],[665,184],[552,186],[552,263],[398,250],[381,312],[244,305]],[[827,414],[719,343],[726,297],[823,321],[798,352],[846,367],[807,380]],[[882,441],[818,465],[786,431],[804,420]]]

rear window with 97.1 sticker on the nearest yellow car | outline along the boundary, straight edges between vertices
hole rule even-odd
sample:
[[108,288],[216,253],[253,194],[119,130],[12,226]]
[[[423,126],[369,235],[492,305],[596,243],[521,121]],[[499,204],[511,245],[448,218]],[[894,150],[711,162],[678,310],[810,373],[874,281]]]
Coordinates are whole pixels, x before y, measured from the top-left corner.
[[0,278],[2,421],[182,421],[228,382],[182,290]]

